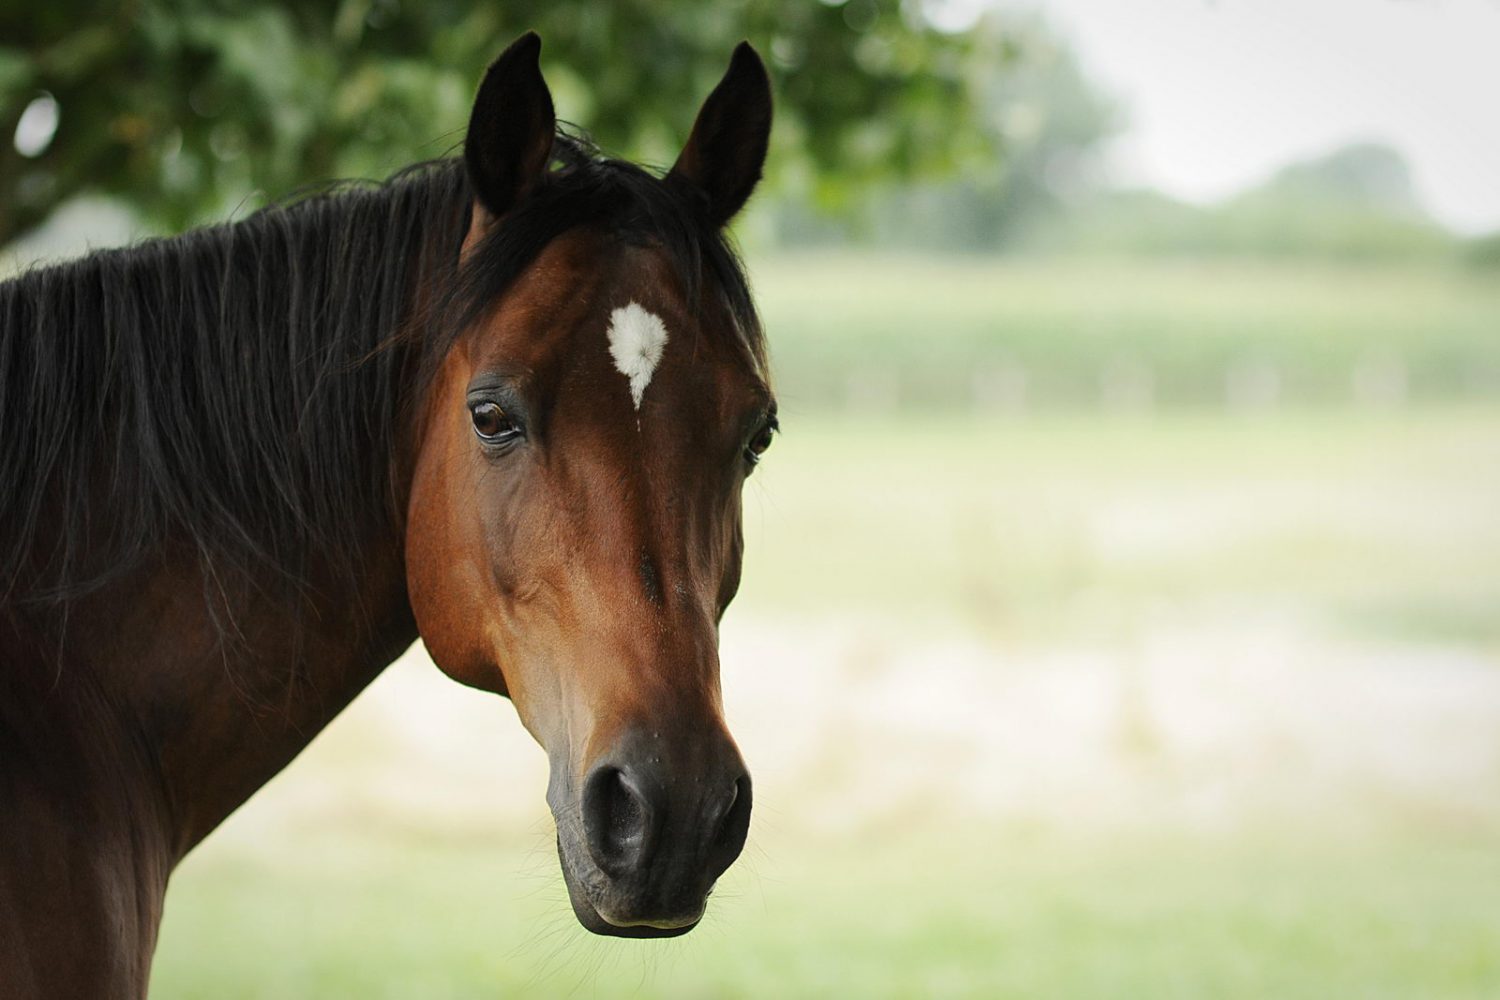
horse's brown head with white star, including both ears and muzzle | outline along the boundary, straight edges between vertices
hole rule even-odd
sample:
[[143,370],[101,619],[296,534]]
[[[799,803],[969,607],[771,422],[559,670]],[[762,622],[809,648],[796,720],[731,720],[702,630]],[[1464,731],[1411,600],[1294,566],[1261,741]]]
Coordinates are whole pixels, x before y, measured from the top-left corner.
[[420,405],[408,589],[438,666],[508,696],[546,750],[584,927],[672,936],[750,822],[718,621],[776,403],[722,229],[760,175],[770,81],[741,45],[664,177],[580,180],[538,49],[489,67],[470,121],[477,304]]

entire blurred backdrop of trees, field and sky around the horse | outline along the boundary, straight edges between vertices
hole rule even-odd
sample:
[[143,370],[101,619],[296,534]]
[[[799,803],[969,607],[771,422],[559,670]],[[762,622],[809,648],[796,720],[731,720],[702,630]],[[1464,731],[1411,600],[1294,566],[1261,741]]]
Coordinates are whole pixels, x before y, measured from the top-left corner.
[[450,154],[526,28],[646,162],[740,37],[777,82],[750,846],[586,936],[418,646],[188,859],[153,997],[1500,994],[1500,6],[8,6],[0,274]]

